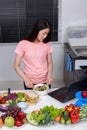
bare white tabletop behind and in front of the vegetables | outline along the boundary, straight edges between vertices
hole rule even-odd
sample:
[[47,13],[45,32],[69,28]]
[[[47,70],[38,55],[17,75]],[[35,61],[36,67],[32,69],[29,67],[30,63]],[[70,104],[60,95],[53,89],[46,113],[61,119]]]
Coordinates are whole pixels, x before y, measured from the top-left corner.
[[[37,102],[36,105],[34,106],[29,106],[28,109],[26,110],[26,112],[31,112],[33,110],[39,109],[44,107],[45,105],[53,105],[57,108],[61,108],[64,107],[66,104],[70,104],[70,103],[74,103],[76,102],[76,99],[73,99],[69,102],[66,103],[61,103],[58,100],[50,97],[49,95],[44,95],[44,96],[40,96],[39,101]],[[60,123],[55,123],[55,124],[50,124],[49,126],[33,126],[31,124],[26,124],[22,127],[19,128],[7,128],[6,126],[3,126],[2,128],[0,128],[1,130],[13,130],[13,129],[21,129],[21,130],[87,130],[87,122],[85,121],[81,121],[79,123],[76,124],[70,124],[70,125],[66,125],[66,124],[60,124]]]

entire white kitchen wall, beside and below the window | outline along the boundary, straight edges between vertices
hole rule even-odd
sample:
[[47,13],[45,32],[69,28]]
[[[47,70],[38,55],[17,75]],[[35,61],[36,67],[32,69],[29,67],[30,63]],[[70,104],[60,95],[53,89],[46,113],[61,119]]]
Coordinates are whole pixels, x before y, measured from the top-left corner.
[[[61,8],[61,37],[60,44],[52,43],[53,47],[53,77],[57,84],[63,81],[63,42],[68,26],[75,24],[87,24],[87,0],[62,0]],[[14,49],[16,45],[0,46],[0,84],[20,81],[21,79],[13,69]],[[20,84],[20,82],[19,82]],[[5,85],[5,84],[4,84]],[[1,86],[1,85],[0,85]]]

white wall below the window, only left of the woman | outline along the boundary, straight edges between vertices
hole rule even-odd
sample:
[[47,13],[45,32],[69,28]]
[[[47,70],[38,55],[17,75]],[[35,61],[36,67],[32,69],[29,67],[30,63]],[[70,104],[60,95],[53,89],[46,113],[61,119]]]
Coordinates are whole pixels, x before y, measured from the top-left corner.
[[0,81],[19,80],[13,69],[16,45],[0,46]]

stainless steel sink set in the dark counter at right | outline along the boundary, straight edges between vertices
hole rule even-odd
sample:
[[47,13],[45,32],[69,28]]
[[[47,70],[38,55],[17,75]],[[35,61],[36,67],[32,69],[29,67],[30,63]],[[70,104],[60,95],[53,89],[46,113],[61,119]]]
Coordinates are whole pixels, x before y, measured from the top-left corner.
[[87,46],[71,46],[71,49],[76,54],[76,56],[87,57]]

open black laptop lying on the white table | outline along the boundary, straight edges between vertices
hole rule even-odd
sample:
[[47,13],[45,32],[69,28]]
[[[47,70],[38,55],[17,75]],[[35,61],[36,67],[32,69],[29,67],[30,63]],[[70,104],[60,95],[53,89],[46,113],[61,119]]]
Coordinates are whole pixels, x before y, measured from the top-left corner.
[[48,95],[64,103],[75,98],[75,93],[78,91],[87,90],[87,79],[80,80],[69,86],[64,86],[55,91],[49,92]]

